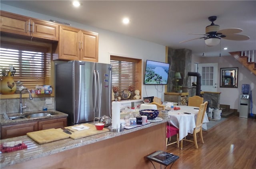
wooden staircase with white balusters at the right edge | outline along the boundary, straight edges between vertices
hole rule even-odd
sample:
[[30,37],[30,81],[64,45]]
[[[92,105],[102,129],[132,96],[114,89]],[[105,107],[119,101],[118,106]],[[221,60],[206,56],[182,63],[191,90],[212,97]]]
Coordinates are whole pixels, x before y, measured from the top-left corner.
[[230,55],[256,75],[256,50],[230,52]]

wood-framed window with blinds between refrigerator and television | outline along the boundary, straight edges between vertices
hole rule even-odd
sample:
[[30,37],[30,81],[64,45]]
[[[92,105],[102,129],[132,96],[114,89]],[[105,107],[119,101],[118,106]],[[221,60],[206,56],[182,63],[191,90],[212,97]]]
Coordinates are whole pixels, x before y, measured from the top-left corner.
[[129,86],[141,92],[141,59],[110,56],[112,64],[112,86],[118,86],[118,95],[122,90],[128,90]]

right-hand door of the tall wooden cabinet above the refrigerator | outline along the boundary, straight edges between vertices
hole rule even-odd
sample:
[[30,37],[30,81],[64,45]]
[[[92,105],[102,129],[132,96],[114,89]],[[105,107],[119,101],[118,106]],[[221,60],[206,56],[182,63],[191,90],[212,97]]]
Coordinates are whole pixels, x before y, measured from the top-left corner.
[[98,62],[98,33],[81,31],[80,60]]

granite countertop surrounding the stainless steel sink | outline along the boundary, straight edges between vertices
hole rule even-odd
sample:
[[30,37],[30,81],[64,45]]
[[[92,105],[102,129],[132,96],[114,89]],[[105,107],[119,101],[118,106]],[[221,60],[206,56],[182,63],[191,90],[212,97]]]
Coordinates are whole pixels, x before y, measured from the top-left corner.
[[56,110],[47,110],[47,111],[35,111],[35,112],[24,112],[22,114],[20,113],[10,113],[7,114],[9,117],[13,117],[13,116],[26,116],[29,114],[34,114],[34,113],[45,113],[45,112],[54,112],[56,114],[52,115],[52,116],[43,116],[43,117],[34,117],[34,118],[21,118],[21,119],[14,119],[14,120],[6,120],[4,118],[4,115],[1,114],[0,116],[0,124],[1,126],[3,125],[13,125],[13,124],[21,124],[21,123],[27,123],[27,122],[34,122],[34,121],[39,121],[39,120],[52,120],[52,119],[57,119],[57,118],[63,118],[63,117],[67,117],[68,114],[66,113],[62,113]]

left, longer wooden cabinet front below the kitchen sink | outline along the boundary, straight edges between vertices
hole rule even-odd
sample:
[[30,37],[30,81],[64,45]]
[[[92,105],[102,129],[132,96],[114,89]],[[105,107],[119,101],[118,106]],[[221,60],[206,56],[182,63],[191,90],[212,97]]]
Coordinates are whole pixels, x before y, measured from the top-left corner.
[[1,126],[1,139],[26,135],[38,130],[38,122]]

